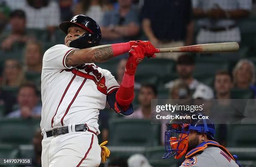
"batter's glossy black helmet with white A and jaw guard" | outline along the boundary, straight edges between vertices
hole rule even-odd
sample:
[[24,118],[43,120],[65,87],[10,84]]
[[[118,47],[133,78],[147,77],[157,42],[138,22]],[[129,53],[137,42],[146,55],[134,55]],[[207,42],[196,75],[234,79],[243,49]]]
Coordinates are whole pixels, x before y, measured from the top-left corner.
[[80,28],[87,30],[88,33],[84,33],[79,38],[72,40],[69,43],[70,47],[84,49],[98,46],[100,44],[100,26],[92,18],[86,15],[76,15],[71,18],[70,21],[62,22],[59,25],[59,28],[67,34],[68,28],[72,26],[79,26]]

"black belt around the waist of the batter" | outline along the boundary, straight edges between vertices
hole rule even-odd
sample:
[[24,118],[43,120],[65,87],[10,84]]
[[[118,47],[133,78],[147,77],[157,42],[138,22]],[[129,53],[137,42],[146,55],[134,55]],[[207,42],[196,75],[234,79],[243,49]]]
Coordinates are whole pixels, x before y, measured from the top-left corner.
[[[76,132],[85,132],[87,131],[88,127],[85,124],[78,124],[75,125],[75,131]],[[46,132],[46,137],[52,137],[52,136],[59,136],[61,134],[67,134],[69,133],[69,127],[56,127],[50,131]]]

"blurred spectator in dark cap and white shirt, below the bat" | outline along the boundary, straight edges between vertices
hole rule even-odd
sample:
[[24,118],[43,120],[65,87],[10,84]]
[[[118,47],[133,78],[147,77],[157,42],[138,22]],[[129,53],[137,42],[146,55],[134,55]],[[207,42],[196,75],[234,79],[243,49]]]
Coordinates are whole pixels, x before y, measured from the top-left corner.
[[193,77],[193,71],[195,69],[195,59],[193,56],[179,56],[176,69],[179,74],[179,78],[166,83],[164,85],[165,88],[170,89],[174,85],[175,81],[182,80],[187,83],[191,92],[195,92],[192,94],[193,99],[213,98],[213,90],[209,86],[205,85],[204,83],[198,81],[196,78]]

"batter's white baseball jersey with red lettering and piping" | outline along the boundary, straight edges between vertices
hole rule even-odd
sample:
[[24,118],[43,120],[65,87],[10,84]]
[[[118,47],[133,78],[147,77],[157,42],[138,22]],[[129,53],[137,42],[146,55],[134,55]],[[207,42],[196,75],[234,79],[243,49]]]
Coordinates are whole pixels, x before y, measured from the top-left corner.
[[110,71],[94,63],[67,67],[65,59],[74,49],[56,45],[44,53],[40,126],[47,130],[86,123],[99,134],[99,110],[105,108],[107,94],[118,89],[119,85]]

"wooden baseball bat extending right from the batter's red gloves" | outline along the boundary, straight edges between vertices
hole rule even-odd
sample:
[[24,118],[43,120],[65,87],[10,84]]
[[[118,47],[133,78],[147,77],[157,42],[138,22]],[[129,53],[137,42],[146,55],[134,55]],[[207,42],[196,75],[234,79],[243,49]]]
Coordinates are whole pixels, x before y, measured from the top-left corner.
[[222,53],[235,52],[239,50],[237,42],[227,43],[206,43],[192,46],[182,46],[176,48],[159,48],[156,53],[160,52],[192,52],[192,53]]

